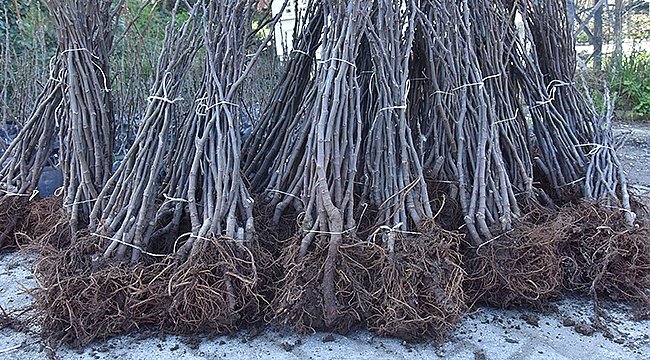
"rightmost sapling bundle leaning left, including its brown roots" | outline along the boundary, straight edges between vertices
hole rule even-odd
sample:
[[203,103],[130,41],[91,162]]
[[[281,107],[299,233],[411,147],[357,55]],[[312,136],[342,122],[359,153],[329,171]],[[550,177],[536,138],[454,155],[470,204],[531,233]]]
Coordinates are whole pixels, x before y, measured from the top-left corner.
[[[525,12],[528,10],[528,12]],[[596,111],[576,85],[573,38],[564,4],[546,0],[522,9],[547,86],[562,84],[549,99],[562,115],[564,128],[574,134],[568,142],[583,156],[580,177],[574,180],[585,203],[570,204],[560,216],[573,227],[559,236],[559,256],[565,261],[565,287],[594,299],[595,325],[600,325],[600,298],[625,300],[639,314],[650,314],[650,244],[647,225],[635,224],[627,179],[616,153],[611,120],[612,100],[605,88],[604,108]],[[553,85],[556,86],[556,85]],[[536,121],[533,118],[533,121]],[[567,138],[568,139],[568,138]],[[577,228],[576,228],[577,227]]]

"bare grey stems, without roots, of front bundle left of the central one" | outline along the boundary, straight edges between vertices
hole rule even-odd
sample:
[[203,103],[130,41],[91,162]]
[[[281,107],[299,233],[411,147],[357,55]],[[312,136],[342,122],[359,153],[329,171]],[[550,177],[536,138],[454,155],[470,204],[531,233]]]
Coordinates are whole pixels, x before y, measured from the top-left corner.
[[163,225],[176,228],[187,211],[191,235],[177,249],[179,258],[201,251],[206,238],[223,237],[242,246],[255,234],[253,200],[242,178],[240,153],[240,87],[268,41],[248,54],[254,5],[243,0],[203,2],[203,85],[179,125],[180,138],[162,189],[170,201],[159,210],[171,214],[172,221]]

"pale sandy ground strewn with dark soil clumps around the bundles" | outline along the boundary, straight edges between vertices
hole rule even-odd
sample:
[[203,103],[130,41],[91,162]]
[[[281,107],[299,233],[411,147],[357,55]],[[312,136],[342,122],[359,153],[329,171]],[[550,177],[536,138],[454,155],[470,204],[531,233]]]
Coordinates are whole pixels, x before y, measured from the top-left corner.
[[[614,132],[626,138],[620,156],[633,191],[650,195],[650,122],[617,123]],[[0,254],[2,311],[16,314],[30,304],[28,289],[37,286],[30,269],[28,256]],[[478,307],[442,344],[409,344],[362,330],[300,335],[269,327],[192,338],[141,332],[78,351],[49,348],[38,329],[7,323],[0,311],[0,359],[650,359],[650,320],[634,321],[630,309],[616,303],[606,304],[606,313],[608,331],[600,331],[591,325],[588,299],[563,299],[545,312]]]

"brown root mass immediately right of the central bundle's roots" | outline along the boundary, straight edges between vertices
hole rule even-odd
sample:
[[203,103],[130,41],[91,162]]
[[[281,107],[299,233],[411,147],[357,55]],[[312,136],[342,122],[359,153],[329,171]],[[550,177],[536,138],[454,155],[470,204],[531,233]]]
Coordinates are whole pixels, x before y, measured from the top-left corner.
[[409,341],[446,336],[466,309],[461,239],[434,228],[385,252],[368,329]]

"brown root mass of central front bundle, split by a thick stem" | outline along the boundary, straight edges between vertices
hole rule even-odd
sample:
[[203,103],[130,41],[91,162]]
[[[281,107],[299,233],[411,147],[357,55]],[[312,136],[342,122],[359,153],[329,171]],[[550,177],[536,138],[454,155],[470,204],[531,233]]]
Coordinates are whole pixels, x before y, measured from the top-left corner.
[[314,247],[296,261],[300,243],[300,237],[293,237],[284,246],[283,277],[278,281],[278,290],[271,303],[275,319],[301,332],[347,333],[363,324],[376,298],[382,249],[370,243],[352,242],[352,239],[343,241],[335,263],[333,290],[338,306],[332,321],[322,289],[328,247],[323,242],[315,242]]

